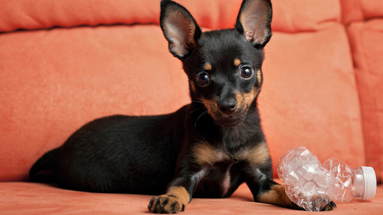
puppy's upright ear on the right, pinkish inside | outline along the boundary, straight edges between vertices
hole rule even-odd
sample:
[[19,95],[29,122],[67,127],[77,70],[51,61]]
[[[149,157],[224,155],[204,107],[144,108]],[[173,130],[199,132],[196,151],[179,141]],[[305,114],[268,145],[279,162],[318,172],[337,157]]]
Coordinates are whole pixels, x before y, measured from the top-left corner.
[[270,0],[244,0],[235,23],[235,29],[244,34],[256,48],[269,42],[273,9]]

